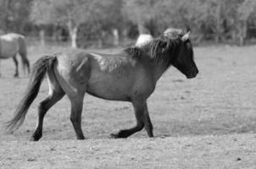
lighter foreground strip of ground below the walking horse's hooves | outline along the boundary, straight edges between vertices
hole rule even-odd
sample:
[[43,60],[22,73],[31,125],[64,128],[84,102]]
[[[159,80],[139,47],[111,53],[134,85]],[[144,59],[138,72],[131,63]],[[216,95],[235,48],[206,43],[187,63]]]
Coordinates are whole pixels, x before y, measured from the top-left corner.
[[2,168],[255,168],[256,135],[2,142]]

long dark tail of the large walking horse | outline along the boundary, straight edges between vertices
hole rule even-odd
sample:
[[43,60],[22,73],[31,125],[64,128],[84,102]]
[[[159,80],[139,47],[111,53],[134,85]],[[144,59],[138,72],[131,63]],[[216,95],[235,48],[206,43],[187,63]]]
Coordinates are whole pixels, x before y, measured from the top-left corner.
[[13,131],[17,130],[24,122],[25,115],[39,92],[42,79],[44,78],[45,74],[47,74],[47,70],[49,68],[53,68],[56,60],[56,57],[45,56],[38,59],[33,65],[30,82],[25,91],[25,95],[19,102],[19,105],[14,112],[14,117],[7,123],[8,133],[12,133]]

